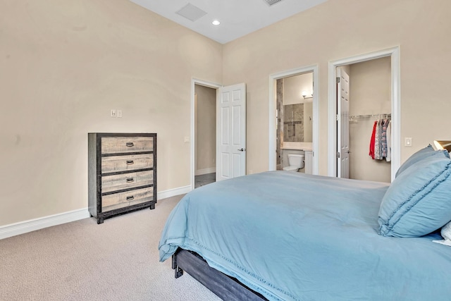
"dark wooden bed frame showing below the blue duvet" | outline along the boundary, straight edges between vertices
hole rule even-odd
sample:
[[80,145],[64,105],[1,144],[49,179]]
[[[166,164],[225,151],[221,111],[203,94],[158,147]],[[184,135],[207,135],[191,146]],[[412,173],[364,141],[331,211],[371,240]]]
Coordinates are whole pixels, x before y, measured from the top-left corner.
[[246,285],[220,271],[211,268],[197,253],[178,248],[172,255],[172,268],[175,278],[186,271],[194,279],[202,283],[222,300],[231,301],[268,301],[266,297],[251,290]]

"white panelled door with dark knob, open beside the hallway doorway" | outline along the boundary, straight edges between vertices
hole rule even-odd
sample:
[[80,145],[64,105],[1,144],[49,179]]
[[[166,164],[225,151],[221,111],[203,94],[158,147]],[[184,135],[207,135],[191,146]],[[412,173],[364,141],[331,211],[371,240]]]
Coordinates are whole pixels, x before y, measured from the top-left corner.
[[246,85],[218,89],[216,181],[246,174]]

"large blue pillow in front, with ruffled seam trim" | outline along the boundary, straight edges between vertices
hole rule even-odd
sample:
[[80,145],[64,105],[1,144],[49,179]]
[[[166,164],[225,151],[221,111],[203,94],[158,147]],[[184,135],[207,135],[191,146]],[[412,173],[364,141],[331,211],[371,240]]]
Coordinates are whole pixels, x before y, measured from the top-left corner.
[[451,160],[431,156],[395,178],[379,208],[379,234],[419,237],[451,221]]

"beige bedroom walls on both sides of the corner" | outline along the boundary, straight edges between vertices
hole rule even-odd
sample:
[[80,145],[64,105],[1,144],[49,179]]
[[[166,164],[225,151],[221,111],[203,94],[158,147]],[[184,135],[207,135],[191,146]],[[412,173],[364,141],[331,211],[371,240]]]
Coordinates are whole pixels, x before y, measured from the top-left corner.
[[0,1],[0,226],[87,207],[88,132],[158,133],[158,190],[190,185],[192,78],[246,82],[255,173],[268,168],[268,75],[318,64],[326,175],[328,61],[400,46],[404,161],[450,137],[449,11],[448,0],[328,0],[221,45],[128,0]]

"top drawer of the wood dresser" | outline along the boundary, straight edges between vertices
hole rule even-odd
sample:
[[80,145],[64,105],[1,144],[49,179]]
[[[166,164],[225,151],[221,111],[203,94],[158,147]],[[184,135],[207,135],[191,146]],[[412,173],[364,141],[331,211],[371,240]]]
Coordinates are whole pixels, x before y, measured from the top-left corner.
[[151,152],[153,137],[102,137],[101,153]]

